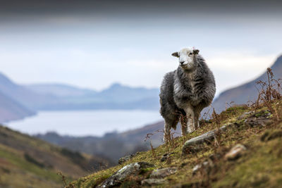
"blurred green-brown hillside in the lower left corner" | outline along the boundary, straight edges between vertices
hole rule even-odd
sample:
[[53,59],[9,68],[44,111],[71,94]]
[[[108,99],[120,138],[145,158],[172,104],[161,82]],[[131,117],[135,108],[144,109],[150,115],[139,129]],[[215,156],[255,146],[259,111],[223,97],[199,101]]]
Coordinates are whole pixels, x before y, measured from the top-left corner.
[[0,125],[0,187],[62,187],[58,171],[73,180],[105,164]]

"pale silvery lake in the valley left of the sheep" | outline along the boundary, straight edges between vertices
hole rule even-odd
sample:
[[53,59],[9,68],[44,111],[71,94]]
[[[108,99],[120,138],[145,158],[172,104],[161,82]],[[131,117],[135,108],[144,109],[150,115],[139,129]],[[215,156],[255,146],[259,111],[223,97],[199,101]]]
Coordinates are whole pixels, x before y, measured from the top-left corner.
[[40,111],[6,126],[27,134],[54,131],[63,135],[102,136],[106,132],[133,130],[161,119],[159,111]]

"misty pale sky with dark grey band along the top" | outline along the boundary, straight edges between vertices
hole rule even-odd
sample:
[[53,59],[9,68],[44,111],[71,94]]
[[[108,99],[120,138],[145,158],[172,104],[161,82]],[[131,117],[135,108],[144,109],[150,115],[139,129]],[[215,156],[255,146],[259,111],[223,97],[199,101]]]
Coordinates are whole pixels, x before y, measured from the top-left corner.
[[282,54],[278,1],[136,2],[1,1],[0,71],[22,84],[159,87],[178,66],[171,54],[195,46],[219,94]]

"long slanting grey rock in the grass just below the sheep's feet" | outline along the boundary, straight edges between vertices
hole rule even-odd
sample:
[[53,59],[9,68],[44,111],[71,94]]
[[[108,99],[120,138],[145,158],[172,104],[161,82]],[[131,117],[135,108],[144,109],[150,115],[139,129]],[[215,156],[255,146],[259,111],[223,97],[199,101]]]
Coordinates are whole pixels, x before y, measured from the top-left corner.
[[192,139],[189,139],[185,142],[182,149],[182,154],[188,154],[188,153],[196,153],[201,149],[201,145],[203,143],[209,143],[214,139],[214,136],[216,136],[216,133],[219,131],[225,131],[227,127],[230,127],[232,124],[223,125],[218,130],[211,130],[209,132],[206,132],[198,137],[194,137]]

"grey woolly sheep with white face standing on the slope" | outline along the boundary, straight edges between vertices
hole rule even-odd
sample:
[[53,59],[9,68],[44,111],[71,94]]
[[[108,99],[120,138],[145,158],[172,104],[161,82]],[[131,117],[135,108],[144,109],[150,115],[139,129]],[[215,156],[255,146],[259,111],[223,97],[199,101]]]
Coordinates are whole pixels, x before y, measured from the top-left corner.
[[185,48],[171,55],[179,58],[179,65],[164,75],[159,94],[165,142],[179,121],[182,135],[199,128],[200,113],[212,103],[216,92],[214,75],[198,49]]

